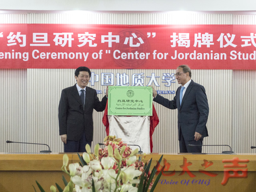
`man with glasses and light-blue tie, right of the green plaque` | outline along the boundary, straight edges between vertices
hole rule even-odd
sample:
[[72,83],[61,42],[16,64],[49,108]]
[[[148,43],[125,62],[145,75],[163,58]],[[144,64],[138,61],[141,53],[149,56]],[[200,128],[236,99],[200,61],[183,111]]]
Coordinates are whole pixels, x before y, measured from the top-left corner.
[[168,100],[153,88],[154,101],[169,108],[178,109],[178,134],[181,153],[202,153],[203,138],[208,136],[206,122],[209,106],[204,86],[191,80],[191,70],[186,65],[176,69],[178,87],[173,100]]

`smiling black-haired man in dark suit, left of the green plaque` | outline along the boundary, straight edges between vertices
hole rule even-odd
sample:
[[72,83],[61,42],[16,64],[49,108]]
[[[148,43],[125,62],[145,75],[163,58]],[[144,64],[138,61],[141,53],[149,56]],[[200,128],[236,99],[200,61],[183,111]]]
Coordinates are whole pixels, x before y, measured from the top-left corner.
[[87,67],[78,67],[75,71],[76,84],[62,90],[59,104],[60,137],[64,143],[64,152],[85,152],[86,144],[93,139],[93,109],[104,111],[106,96],[99,100],[96,90],[87,87],[91,71]]

